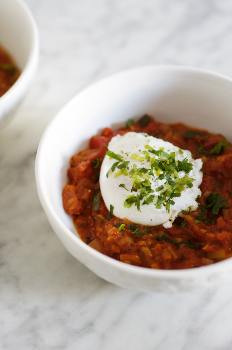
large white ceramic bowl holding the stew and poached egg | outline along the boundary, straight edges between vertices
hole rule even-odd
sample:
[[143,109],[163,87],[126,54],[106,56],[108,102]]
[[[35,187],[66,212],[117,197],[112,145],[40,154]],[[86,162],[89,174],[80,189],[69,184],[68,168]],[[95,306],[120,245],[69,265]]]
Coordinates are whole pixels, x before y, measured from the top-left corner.
[[149,113],[163,122],[184,122],[222,133],[232,141],[232,80],[176,66],[147,66],[102,79],[74,96],[47,126],[36,157],[38,194],[47,218],[67,250],[103,279],[145,292],[209,287],[232,276],[232,258],[185,270],[157,270],[116,261],[78,237],[62,207],[70,157],[106,126]]

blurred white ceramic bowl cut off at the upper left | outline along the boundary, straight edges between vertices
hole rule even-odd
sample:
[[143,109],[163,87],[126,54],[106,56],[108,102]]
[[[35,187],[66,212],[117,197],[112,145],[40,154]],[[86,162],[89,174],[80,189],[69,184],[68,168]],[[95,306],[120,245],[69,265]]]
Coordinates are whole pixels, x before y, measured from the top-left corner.
[[1,0],[1,45],[21,70],[15,84],[0,97],[1,127],[14,116],[29,90],[39,57],[39,36],[36,22],[24,2]]

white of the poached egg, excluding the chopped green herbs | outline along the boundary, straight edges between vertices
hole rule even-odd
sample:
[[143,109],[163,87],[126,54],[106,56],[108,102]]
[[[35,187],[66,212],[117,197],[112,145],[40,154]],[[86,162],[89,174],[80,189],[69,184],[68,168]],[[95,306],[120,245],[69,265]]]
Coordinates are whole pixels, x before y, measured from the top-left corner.
[[[140,190],[137,192],[132,191],[132,185],[134,179],[129,175],[129,172],[133,169],[133,165],[136,165],[137,168],[149,168],[151,167],[151,161],[145,160],[143,151],[147,151],[145,145],[151,146],[155,150],[163,149],[167,153],[175,152],[175,162],[183,161],[186,157],[188,159],[188,163],[192,163],[193,169],[190,170],[188,174],[184,171],[178,172],[180,178],[184,176],[191,177],[195,179],[192,182],[193,187],[188,188],[186,185],[184,190],[181,191],[180,197],[174,197],[172,200],[175,202],[174,205],[170,205],[170,211],[166,210],[166,202],[164,201],[161,209],[156,209],[156,204],[158,200],[158,195],[161,195],[164,190],[156,191],[161,185],[164,185],[165,179],[156,180],[157,175],[154,172],[154,177],[150,177],[151,188],[155,191],[154,201],[150,204],[142,205],[143,201],[140,201],[140,209],[138,210],[136,204],[133,204],[130,208],[124,207],[124,201],[127,199],[129,195],[137,195],[140,193]],[[172,145],[170,142],[166,142],[162,139],[157,139],[155,137],[149,136],[143,133],[135,133],[128,132],[125,135],[117,135],[113,137],[108,145],[108,150],[114,152],[115,154],[119,154],[123,157],[124,161],[129,161],[128,164],[128,175],[120,175],[114,178],[115,173],[119,170],[115,168],[114,172],[110,170],[108,173],[108,177],[106,174],[108,170],[112,167],[112,165],[117,162],[115,159],[110,159],[108,155],[105,155],[103,160],[101,170],[100,170],[100,190],[105,202],[106,207],[110,210],[110,205],[113,205],[113,215],[121,218],[128,219],[132,223],[142,224],[146,226],[155,226],[161,225],[165,228],[170,228],[174,219],[180,215],[182,216],[181,211],[188,211],[189,207],[191,210],[197,209],[196,197],[201,195],[201,191],[199,186],[202,182],[202,172],[200,171],[202,168],[201,159],[194,160],[192,155],[187,150],[182,150],[179,152],[179,148]],[[149,153],[149,152],[148,152]],[[182,153],[182,154],[181,154]],[[131,159],[132,154],[138,154],[144,158],[143,161]],[[155,154],[149,153],[149,155],[156,156]],[[161,172],[162,174],[162,172]],[[144,179],[141,179],[144,181]],[[120,184],[124,184],[124,187],[119,187]]]

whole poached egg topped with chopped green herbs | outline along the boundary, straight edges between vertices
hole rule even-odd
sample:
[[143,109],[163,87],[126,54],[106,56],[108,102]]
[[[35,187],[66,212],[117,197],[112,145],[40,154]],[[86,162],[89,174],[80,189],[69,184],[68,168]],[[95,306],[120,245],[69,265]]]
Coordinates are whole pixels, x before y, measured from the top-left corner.
[[182,210],[197,209],[201,159],[148,134],[128,132],[108,144],[100,190],[108,210],[132,223],[165,228]]

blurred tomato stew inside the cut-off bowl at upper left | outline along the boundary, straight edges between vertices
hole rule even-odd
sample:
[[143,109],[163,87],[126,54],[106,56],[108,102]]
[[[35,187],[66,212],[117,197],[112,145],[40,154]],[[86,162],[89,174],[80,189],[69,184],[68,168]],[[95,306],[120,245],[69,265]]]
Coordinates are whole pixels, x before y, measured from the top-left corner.
[[10,58],[6,50],[0,47],[0,96],[6,93],[20,76],[20,71]]

